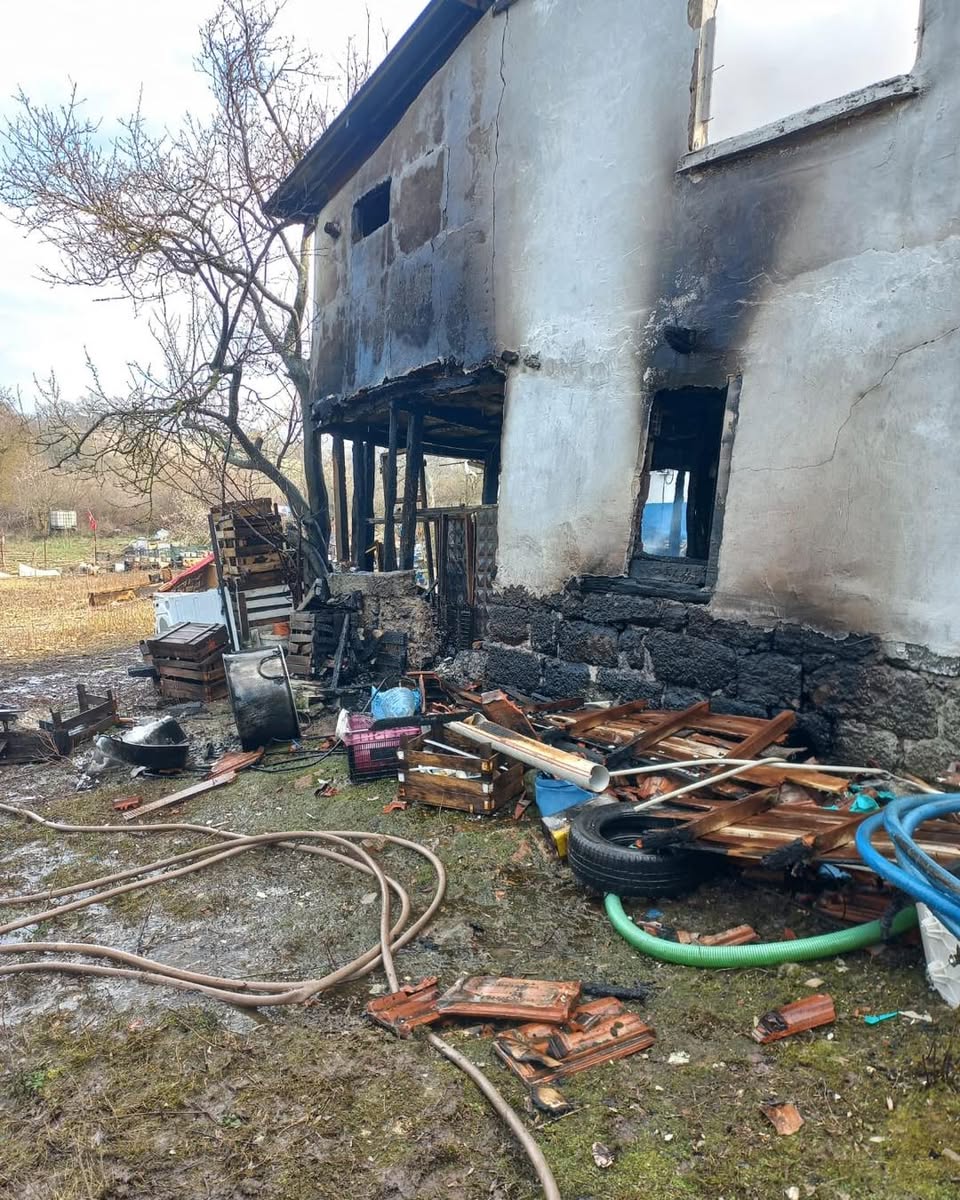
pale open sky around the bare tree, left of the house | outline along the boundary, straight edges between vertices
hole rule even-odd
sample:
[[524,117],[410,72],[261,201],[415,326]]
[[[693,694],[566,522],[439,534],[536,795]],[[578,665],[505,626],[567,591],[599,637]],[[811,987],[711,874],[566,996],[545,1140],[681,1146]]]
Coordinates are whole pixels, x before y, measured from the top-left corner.
[[[350,36],[366,37],[366,7],[383,55],[380,26],[392,46],[426,0],[288,0],[284,22],[331,67]],[[46,0],[2,4],[0,120],[18,89],[34,101],[59,103],[76,83],[92,115],[143,109],[175,126],[185,112],[203,112],[204,84],[193,70],[197,29],[216,0]],[[134,16],[136,14],[136,16]],[[125,364],[150,358],[152,343],[125,301],[95,298],[89,288],[50,287],[37,280],[50,263],[36,239],[0,218],[0,388],[19,388],[28,407],[34,377],[56,373],[65,395],[83,391],[85,354],[104,380],[121,386]]]

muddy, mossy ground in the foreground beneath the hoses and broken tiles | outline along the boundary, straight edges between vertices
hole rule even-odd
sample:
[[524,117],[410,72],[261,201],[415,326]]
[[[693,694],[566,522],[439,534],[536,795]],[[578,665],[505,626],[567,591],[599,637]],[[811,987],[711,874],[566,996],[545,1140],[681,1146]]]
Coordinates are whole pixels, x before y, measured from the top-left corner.
[[[0,701],[35,715],[67,701],[76,679],[114,684],[121,710],[149,714],[136,655],[0,666]],[[224,706],[184,720],[198,760],[230,733]],[[294,762],[294,760],[292,760]],[[124,770],[76,791],[78,764],[6,768],[7,803],[72,822],[113,820],[110,799],[144,799],[169,781]],[[316,793],[318,776],[338,792]],[[960,1184],[960,1013],[924,978],[919,948],[787,965],[697,972],[641,958],[607,925],[552,856],[532,818],[474,820],[412,809],[384,815],[391,782],[347,781],[335,756],[311,770],[253,773],[184,806],[184,820],[257,832],[282,828],[398,833],[431,846],[450,884],[433,925],[397,956],[408,980],[464,972],[647,982],[637,1008],[658,1040],[644,1055],[564,1085],[575,1110],[533,1114],[494,1061],[487,1036],[450,1037],[526,1114],[564,1198],[592,1200],[946,1200]],[[62,835],[0,816],[0,890],[61,886],[197,839]],[[430,872],[394,848],[383,862],[426,902]],[[378,906],[356,872],[282,850],[50,922],[41,935],[98,941],[217,973],[301,978],[372,946]],[[649,905],[632,905],[643,912]],[[715,931],[740,922],[766,938],[829,928],[786,894],[720,878],[662,905],[671,924]],[[18,910],[2,908],[4,920]],[[36,930],[10,935],[40,936]],[[755,1018],[814,989],[839,1019],[770,1046]],[[533,1200],[511,1139],[473,1086],[418,1039],[368,1025],[378,974],[307,1008],[241,1012],[144,984],[17,976],[0,982],[0,1196],[4,1200],[210,1200],[463,1196]],[[877,1026],[864,1013],[913,1010]],[[780,1138],[770,1102],[805,1124]],[[600,1168],[592,1146],[610,1148]]]

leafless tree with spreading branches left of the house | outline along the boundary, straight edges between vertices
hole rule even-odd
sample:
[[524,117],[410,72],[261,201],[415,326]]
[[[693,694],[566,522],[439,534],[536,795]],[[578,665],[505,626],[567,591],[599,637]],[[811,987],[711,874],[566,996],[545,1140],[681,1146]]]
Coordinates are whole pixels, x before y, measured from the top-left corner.
[[[334,82],[281,32],[281,12],[282,0],[222,0],[196,59],[210,112],[174,131],[140,109],[104,131],[76,89],[60,107],[20,92],[2,132],[0,200],[58,251],[53,282],[127,299],[157,347],[120,394],[94,364],[78,402],[55,380],[42,388],[56,464],[122,464],[143,492],[211,463],[259,472],[300,518],[317,574],[330,518],[308,413],[314,227],[284,227],[264,203],[326,127]],[[366,79],[368,52],[370,35],[366,55],[348,46],[347,92]],[[300,452],[304,487],[289,469]]]

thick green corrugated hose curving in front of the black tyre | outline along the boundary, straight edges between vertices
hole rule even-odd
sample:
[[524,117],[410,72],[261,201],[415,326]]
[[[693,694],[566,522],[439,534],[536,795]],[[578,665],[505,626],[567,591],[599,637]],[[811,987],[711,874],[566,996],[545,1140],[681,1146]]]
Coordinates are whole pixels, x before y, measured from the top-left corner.
[[752,946],[683,946],[654,937],[638,929],[623,911],[619,896],[607,895],[604,900],[610,923],[635,949],[660,962],[673,962],[682,967],[707,967],[730,970],[731,967],[773,967],[780,962],[802,962],[808,959],[829,959],[836,954],[862,950],[884,937],[905,934],[917,924],[917,910],[904,908],[889,928],[889,934],[880,920],[841,929],[835,934],[818,934],[816,937],[798,937],[791,942],[755,942]]

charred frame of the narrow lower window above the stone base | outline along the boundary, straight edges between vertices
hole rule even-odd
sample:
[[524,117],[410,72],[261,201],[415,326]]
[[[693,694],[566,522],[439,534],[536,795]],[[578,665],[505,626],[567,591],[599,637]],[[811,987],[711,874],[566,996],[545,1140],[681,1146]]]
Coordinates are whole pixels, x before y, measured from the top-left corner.
[[724,408],[720,421],[720,445],[716,461],[716,485],[714,488],[713,517],[708,538],[708,553],[706,559],[673,558],[665,554],[648,554],[643,551],[643,508],[646,497],[643,491],[637,497],[636,511],[634,514],[634,533],[630,547],[629,577],[640,590],[648,590],[653,595],[677,595],[684,599],[707,600],[716,586],[716,576],[720,563],[720,544],[724,535],[724,517],[726,512],[727,490],[730,486],[730,469],[733,457],[733,440],[737,432],[740,406],[739,376],[730,376],[726,379],[712,382],[697,382],[690,384],[676,382],[673,385],[662,382],[648,394],[646,402],[641,482],[642,475],[652,468],[649,462],[650,449],[650,419],[654,413],[654,403],[658,397],[670,392],[683,392],[688,390],[709,390],[725,394]]

